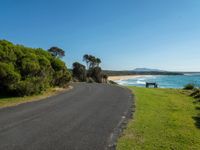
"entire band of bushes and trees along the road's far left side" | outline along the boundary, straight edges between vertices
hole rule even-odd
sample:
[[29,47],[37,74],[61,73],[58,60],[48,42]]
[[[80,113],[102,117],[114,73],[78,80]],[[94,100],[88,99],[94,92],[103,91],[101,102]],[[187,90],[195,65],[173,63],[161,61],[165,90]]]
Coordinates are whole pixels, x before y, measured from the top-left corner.
[[15,45],[0,40],[0,95],[29,96],[49,88],[66,87],[73,81],[107,83],[102,73],[101,59],[84,55],[85,67],[73,63],[70,71],[62,61],[65,51],[53,46],[48,50]]

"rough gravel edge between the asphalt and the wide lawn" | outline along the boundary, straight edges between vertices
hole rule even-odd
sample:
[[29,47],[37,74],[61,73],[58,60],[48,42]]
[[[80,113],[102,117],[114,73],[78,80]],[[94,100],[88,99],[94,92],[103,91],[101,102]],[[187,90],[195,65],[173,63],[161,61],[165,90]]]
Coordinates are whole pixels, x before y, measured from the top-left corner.
[[124,113],[124,115],[122,116],[120,122],[117,124],[117,126],[115,127],[113,133],[111,133],[109,139],[108,139],[108,144],[107,147],[105,148],[105,150],[116,150],[116,146],[117,146],[117,141],[120,138],[120,136],[122,135],[124,129],[126,129],[128,122],[131,119],[134,119],[134,112],[135,112],[135,95],[133,94],[133,92],[124,86],[119,86],[117,85],[119,88],[123,88],[126,89],[130,92],[131,97],[131,105],[129,106],[128,110]]

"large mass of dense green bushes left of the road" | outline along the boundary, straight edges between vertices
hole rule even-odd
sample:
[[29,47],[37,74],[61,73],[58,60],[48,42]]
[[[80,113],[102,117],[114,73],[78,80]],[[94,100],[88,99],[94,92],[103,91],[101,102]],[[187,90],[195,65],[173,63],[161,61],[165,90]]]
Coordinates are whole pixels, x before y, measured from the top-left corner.
[[70,79],[65,63],[58,57],[41,48],[33,49],[0,40],[2,92],[33,95],[51,86],[64,86]]

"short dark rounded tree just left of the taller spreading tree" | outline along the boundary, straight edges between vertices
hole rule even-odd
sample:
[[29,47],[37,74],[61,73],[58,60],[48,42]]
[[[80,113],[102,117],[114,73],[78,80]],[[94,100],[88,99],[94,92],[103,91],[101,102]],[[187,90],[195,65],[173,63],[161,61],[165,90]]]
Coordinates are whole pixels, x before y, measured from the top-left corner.
[[86,81],[86,69],[85,66],[75,62],[73,63],[73,77],[78,79],[79,81]]

